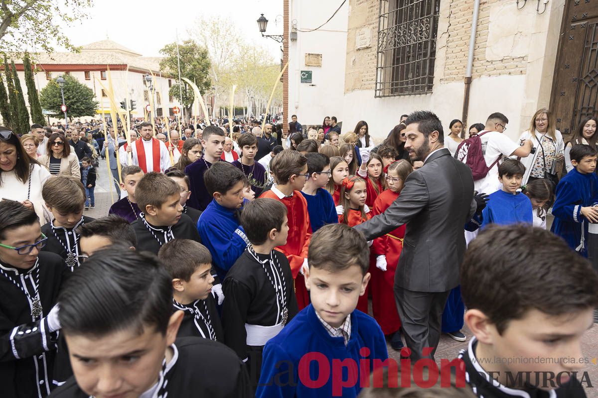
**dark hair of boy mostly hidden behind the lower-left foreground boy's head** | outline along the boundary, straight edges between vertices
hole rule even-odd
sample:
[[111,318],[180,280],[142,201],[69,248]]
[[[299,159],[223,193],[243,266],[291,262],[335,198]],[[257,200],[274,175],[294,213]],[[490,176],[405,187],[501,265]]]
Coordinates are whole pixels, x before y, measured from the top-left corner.
[[129,221],[115,214],[81,224],[77,228],[77,233],[80,237],[97,235],[108,238],[113,244],[122,243],[127,247],[137,246],[137,236],[133,226],[129,224]]

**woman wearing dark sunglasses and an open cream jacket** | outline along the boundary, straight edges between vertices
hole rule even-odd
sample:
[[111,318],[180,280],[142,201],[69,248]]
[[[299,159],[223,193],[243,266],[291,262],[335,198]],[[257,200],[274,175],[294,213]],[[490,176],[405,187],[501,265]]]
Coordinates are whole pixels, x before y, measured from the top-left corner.
[[46,154],[39,156],[38,162],[50,170],[52,175],[72,175],[81,178],[79,158],[71,151],[68,141],[60,132],[50,135]]

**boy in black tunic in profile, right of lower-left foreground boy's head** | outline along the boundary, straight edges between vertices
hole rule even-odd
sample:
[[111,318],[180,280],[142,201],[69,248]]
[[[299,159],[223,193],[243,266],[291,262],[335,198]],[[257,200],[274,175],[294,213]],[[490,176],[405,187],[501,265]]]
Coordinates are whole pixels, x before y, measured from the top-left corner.
[[206,246],[175,239],[162,246],[158,258],[172,278],[174,310],[185,314],[177,337],[202,337],[224,342],[216,303],[210,294],[214,277]]

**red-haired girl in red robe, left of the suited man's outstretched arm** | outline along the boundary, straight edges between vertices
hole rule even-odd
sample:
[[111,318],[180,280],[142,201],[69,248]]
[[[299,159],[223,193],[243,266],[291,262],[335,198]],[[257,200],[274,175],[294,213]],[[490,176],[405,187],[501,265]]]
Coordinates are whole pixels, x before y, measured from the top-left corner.
[[[341,205],[337,206],[339,223],[355,227],[372,218],[369,212],[365,212],[367,190],[363,178],[349,175],[341,183],[340,195]],[[364,294],[359,297],[357,302],[357,309],[366,314],[368,313],[368,288],[369,286],[365,288]]]

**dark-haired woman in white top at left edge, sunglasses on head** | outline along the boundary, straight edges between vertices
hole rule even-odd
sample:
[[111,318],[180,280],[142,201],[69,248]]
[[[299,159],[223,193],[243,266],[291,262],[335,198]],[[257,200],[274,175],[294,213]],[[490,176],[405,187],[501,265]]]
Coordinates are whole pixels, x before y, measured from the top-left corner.
[[0,126],[0,198],[23,203],[45,224],[41,189],[48,177],[48,170],[30,158],[19,137]]

